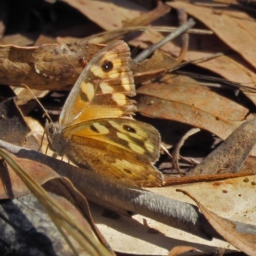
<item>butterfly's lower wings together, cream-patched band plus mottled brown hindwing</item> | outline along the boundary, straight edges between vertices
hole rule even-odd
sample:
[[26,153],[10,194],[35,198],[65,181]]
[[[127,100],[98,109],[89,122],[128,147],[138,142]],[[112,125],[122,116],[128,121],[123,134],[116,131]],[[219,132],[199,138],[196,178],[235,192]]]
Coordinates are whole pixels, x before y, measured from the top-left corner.
[[151,125],[106,118],[67,127],[63,136],[68,138],[67,154],[78,166],[97,165],[96,172],[102,175],[140,186],[161,184],[161,175],[152,165],[159,157],[160,136]]

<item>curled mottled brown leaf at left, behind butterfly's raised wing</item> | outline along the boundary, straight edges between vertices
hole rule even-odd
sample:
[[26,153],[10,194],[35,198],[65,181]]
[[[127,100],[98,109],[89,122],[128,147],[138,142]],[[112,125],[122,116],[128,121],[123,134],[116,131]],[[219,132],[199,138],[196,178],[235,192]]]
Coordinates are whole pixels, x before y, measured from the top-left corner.
[[40,47],[0,46],[0,83],[27,84],[31,89],[63,90],[76,82],[83,68],[103,45],[46,44]]

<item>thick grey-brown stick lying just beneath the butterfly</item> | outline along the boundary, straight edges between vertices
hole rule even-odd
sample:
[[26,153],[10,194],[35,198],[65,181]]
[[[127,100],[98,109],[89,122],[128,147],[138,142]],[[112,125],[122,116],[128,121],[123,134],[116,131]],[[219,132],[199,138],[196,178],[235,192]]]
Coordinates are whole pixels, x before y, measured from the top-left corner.
[[[119,180],[116,182],[109,177],[104,177],[90,170],[77,168],[52,157],[45,157],[44,154],[17,147],[1,140],[0,147],[16,154],[18,157],[24,157],[40,163],[44,160],[44,164],[70,179],[74,186],[90,202],[115,211],[120,209],[119,212],[126,211],[127,214],[141,214],[205,239],[221,238],[195,205],[166,198],[145,189],[131,188],[125,182]],[[249,230],[248,232],[256,234],[255,226],[233,222],[236,223],[237,230]]]

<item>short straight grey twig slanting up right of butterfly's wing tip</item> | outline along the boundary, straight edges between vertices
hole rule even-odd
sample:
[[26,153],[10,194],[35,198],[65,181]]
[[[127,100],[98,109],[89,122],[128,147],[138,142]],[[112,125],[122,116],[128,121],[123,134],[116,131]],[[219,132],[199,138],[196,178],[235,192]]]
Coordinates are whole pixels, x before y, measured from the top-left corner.
[[157,44],[151,45],[148,47],[145,51],[141,52],[138,54],[135,58],[134,61],[140,63],[141,61],[145,60],[148,56],[150,56],[154,51],[159,49],[161,46],[169,42],[170,40],[173,40],[175,37],[181,35],[182,33],[186,32],[188,29],[192,28],[195,26],[196,22],[193,19],[189,19],[188,22],[184,23],[182,26],[177,28],[176,31],[173,33],[170,33],[168,36],[166,36],[163,40],[158,42]]

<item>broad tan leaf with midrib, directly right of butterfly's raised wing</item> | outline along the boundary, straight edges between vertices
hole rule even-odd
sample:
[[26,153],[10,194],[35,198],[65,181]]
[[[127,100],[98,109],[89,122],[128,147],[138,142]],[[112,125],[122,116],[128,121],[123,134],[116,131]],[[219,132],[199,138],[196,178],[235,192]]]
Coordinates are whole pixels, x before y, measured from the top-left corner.
[[253,118],[247,116],[248,109],[186,76],[166,75],[161,83],[145,84],[137,93],[137,107],[142,115],[193,125],[223,140],[245,118]]

